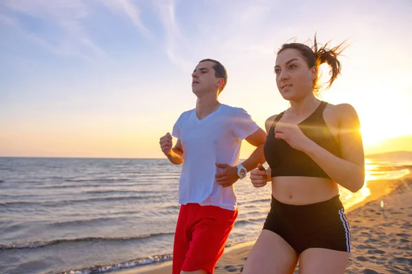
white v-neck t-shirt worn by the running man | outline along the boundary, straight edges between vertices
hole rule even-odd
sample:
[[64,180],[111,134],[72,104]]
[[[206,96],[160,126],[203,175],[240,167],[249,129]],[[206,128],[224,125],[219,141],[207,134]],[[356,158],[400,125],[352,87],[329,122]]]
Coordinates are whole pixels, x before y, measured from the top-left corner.
[[202,120],[196,109],[183,112],[172,132],[183,147],[179,203],[235,210],[234,186],[223,188],[216,182],[215,175],[221,169],[215,163],[238,164],[242,140],[258,128],[245,110],[229,105],[220,105]]

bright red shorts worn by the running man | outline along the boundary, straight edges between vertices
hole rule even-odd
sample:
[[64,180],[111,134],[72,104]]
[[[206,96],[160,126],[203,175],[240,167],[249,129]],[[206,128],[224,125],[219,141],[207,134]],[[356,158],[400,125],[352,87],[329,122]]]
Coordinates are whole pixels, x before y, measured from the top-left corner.
[[238,210],[182,205],[174,234],[173,274],[204,270],[213,273],[225,249]]

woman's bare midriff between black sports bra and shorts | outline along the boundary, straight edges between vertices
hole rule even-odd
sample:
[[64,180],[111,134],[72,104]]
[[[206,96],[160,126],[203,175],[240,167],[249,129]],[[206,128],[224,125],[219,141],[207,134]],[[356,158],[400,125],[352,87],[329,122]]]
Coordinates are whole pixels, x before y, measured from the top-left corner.
[[272,178],[272,195],[281,203],[308,205],[327,201],[338,194],[338,184],[332,179],[317,177]]

